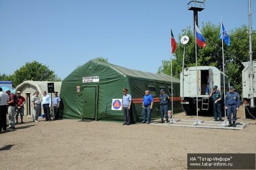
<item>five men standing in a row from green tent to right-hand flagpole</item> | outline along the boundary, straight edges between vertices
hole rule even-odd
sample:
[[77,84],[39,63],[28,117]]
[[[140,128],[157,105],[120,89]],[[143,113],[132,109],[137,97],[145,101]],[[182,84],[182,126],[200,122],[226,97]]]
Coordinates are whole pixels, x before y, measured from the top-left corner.
[[[131,124],[131,104],[132,104],[132,96],[127,93],[127,89],[123,88],[123,98],[122,98],[122,110],[124,112],[124,124]],[[164,116],[166,123],[168,123],[168,104],[169,104],[169,96],[165,93],[164,89],[160,90],[159,101],[160,101],[160,118],[161,122],[164,123]],[[221,100],[223,99],[222,93],[218,90],[218,86],[214,86],[212,91],[209,94],[209,97],[212,98],[213,101],[213,109],[214,109],[214,118],[215,121],[222,122],[222,111],[221,111]],[[151,111],[153,108],[154,98],[150,94],[148,90],[145,90],[145,95],[143,97],[142,102],[142,122],[141,124],[150,124],[151,123]],[[234,91],[234,87],[230,86],[230,91],[226,93],[224,106],[227,110],[227,119],[228,119],[228,127],[236,127],[237,121],[237,110],[240,106],[240,98],[239,94]],[[147,115],[147,116],[146,116]],[[219,119],[218,119],[219,118]]]

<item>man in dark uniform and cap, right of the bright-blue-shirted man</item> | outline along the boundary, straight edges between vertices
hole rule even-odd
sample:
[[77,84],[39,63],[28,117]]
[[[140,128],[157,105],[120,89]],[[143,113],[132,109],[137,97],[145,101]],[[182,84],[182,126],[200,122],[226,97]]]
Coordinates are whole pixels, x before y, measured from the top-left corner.
[[160,100],[160,117],[161,123],[163,123],[163,116],[165,115],[166,123],[168,123],[168,103],[169,103],[169,96],[165,94],[164,89],[160,90],[159,100]]

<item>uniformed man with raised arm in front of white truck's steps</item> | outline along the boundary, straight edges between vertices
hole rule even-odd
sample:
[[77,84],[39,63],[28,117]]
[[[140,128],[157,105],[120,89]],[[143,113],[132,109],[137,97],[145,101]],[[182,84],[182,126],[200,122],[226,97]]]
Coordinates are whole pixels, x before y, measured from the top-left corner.
[[214,106],[214,119],[215,121],[223,121],[221,118],[221,100],[222,100],[222,94],[218,90],[218,86],[214,86],[214,88],[210,92],[210,97],[212,97],[213,106]]

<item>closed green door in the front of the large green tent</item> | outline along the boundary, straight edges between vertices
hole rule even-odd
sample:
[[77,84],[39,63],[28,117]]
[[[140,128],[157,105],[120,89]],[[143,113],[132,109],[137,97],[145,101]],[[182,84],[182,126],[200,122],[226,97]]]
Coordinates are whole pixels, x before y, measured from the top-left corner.
[[95,119],[96,113],[96,87],[83,88],[83,112],[82,118]]

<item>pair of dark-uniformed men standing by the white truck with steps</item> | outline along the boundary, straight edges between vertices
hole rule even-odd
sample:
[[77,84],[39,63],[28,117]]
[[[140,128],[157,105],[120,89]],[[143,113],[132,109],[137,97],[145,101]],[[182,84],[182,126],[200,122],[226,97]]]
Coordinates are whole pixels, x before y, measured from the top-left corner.
[[[214,86],[209,95],[212,98],[214,108],[215,121],[222,122],[221,100],[223,99],[221,92],[218,90],[218,86]],[[229,92],[225,95],[224,106],[227,110],[228,127],[236,127],[237,110],[240,106],[239,94],[234,91],[234,87],[230,86]],[[218,119],[219,118],[219,119]]]

